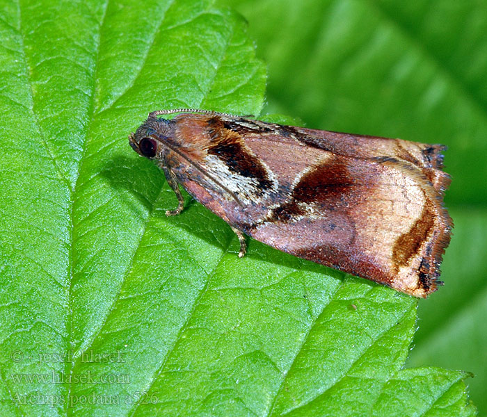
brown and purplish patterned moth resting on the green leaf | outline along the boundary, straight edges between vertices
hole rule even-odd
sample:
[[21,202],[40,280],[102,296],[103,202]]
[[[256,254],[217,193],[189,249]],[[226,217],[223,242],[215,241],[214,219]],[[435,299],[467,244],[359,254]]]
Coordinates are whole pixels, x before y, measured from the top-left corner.
[[[182,113],[171,120],[159,115]],[[260,122],[226,113],[154,111],[129,136],[244,234],[304,259],[426,297],[436,290],[452,220],[442,145]]]

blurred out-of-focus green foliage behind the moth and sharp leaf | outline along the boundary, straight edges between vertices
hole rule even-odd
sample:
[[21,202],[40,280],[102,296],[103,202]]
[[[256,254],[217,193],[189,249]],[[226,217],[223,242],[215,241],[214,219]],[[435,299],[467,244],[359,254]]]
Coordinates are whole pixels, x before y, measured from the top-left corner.
[[409,366],[470,370],[487,415],[487,1],[225,0],[269,66],[265,111],[306,126],[443,143],[454,219]]

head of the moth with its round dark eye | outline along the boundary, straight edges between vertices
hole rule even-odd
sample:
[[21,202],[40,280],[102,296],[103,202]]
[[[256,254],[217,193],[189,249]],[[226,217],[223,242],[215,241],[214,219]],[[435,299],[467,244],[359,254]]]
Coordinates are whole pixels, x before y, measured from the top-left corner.
[[129,144],[141,156],[157,158],[163,150],[163,140],[170,136],[170,120],[149,116],[135,133],[129,134]]

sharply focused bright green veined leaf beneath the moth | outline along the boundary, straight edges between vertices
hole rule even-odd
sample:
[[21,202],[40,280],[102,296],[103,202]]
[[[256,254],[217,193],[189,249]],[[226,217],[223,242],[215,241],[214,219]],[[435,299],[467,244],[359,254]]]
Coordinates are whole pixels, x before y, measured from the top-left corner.
[[[148,111],[262,108],[212,1],[0,4],[1,416],[471,416],[401,370],[416,301],[251,241],[129,147]],[[336,414],[335,413],[335,414]],[[333,413],[332,413],[333,414]]]

